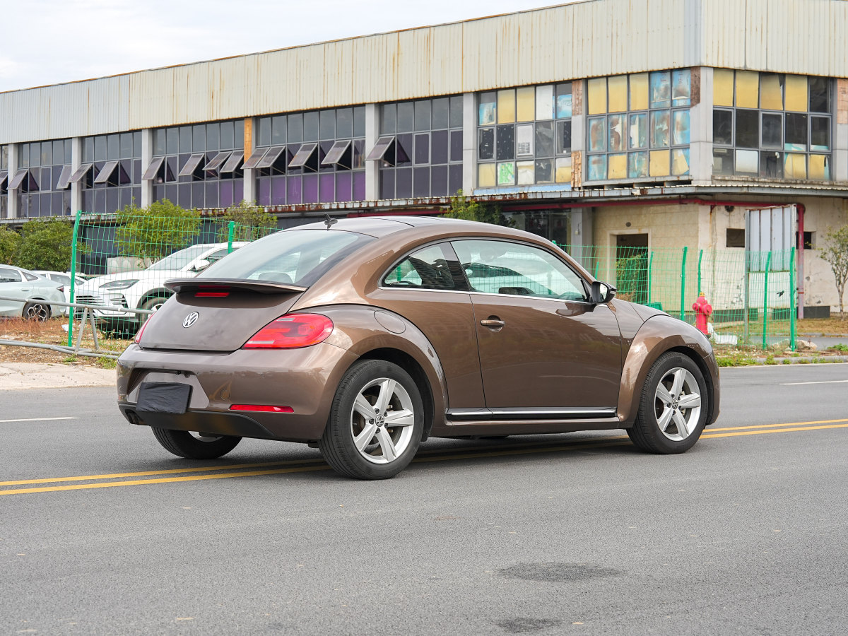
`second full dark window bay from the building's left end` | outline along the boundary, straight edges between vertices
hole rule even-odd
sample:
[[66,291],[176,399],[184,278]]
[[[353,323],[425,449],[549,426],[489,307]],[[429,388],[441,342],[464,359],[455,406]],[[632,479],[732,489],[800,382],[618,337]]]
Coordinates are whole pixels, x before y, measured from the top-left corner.
[[141,204],[142,133],[85,137],[82,162],[70,182],[82,187],[82,209],[112,214],[126,205]]

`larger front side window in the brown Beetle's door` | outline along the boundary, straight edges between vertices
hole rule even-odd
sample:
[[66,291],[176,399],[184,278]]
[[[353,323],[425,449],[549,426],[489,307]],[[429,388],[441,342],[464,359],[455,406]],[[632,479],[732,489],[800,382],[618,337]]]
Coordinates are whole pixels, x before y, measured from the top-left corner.
[[454,241],[451,244],[474,291],[586,299],[583,279],[544,249],[507,241]]

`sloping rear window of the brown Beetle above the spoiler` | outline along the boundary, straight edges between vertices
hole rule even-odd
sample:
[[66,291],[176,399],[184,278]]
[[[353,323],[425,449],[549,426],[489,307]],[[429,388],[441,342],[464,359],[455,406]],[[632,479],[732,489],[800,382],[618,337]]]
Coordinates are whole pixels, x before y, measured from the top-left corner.
[[374,237],[339,230],[276,232],[233,252],[198,278],[241,278],[310,287]]

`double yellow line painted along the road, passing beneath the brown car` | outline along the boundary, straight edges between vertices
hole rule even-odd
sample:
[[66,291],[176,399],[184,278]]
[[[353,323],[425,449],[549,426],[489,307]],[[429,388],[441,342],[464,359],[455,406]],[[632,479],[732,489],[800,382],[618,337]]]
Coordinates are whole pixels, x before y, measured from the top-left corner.
[[[750,427],[709,427],[701,434],[701,438],[731,438],[741,435],[764,435],[775,432],[817,431],[826,428],[848,428],[848,419],[798,421],[786,424],[760,424]],[[605,438],[589,438],[575,440],[568,444],[550,446],[544,442],[529,444],[510,444],[503,448],[498,446],[478,446],[471,449],[450,450],[421,450],[416,462],[469,460],[484,457],[503,457],[505,455],[529,455],[535,453],[555,453],[567,450],[596,449],[610,446],[629,444],[626,435],[616,435]],[[272,467],[273,466],[273,467]],[[252,470],[250,470],[252,469]],[[262,470],[257,470],[262,469]],[[320,458],[288,461],[269,461],[254,464],[229,464],[226,466],[199,466],[195,468],[174,468],[165,471],[116,472],[104,475],[82,475],[78,477],[46,477],[41,479],[21,479],[17,481],[0,482],[0,487],[14,486],[0,490],[5,494],[36,494],[53,493],[61,490],[86,490],[89,488],[114,488],[117,486],[139,486],[155,483],[198,482],[204,479],[227,479],[230,477],[259,477],[260,475],[281,475],[287,472],[327,471]],[[168,475],[170,477],[164,477]],[[151,477],[128,479],[128,477]],[[77,482],[77,483],[72,483]],[[81,483],[85,482],[85,483]],[[59,486],[38,486],[37,484],[62,483]],[[22,488],[22,487],[32,488]]]

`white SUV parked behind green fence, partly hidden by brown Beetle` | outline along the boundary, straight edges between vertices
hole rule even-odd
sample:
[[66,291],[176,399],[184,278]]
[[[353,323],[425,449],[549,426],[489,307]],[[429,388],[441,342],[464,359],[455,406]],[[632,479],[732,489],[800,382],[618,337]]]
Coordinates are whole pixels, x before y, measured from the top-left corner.
[[[247,242],[232,243],[235,250]],[[171,278],[196,276],[215,261],[223,259],[227,243],[199,243],[165,256],[146,270],[122,271],[120,274],[98,276],[76,288],[75,302],[92,304],[103,309],[95,310],[101,322],[121,331],[135,331],[147,318],[126,311],[158,310],[172,292],[165,288]],[[81,310],[77,310],[80,313]],[[114,323],[114,324],[113,324]]]

